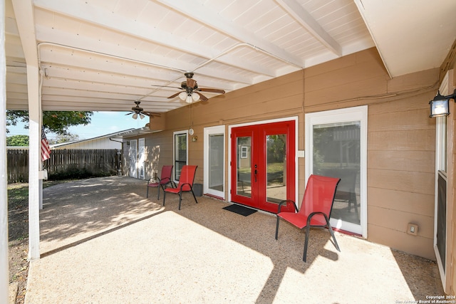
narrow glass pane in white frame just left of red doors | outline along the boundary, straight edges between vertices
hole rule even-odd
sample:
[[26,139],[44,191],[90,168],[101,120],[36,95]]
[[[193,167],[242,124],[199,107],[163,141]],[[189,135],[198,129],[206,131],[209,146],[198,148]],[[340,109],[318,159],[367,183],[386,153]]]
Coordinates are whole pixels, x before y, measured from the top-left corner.
[[223,191],[223,134],[209,135],[209,189]]

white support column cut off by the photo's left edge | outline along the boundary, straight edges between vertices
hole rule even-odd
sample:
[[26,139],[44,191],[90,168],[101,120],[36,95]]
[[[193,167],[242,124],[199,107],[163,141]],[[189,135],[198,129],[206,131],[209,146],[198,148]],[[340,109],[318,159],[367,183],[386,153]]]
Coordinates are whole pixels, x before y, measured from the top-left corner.
[[[5,1],[0,0],[0,28],[5,28]],[[0,154],[6,156],[6,58],[5,31],[0,32]],[[6,162],[0,162],[0,303],[8,303],[8,195]]]

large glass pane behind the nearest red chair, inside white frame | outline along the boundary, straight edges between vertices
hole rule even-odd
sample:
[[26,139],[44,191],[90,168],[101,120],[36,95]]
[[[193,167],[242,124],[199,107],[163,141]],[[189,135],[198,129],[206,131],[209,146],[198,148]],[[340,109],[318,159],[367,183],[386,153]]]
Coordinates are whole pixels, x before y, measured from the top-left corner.
[[361,224],[360,145],[361,122],[314,125],[314,174],[338,177],[336,198],[331,218]]

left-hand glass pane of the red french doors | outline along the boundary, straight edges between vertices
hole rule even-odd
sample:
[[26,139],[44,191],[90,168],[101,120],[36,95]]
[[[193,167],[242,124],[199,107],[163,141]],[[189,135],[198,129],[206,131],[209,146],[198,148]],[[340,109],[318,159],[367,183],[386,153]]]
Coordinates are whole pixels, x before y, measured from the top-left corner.
[[236,194],[252,197],[252,137],[237,137]]

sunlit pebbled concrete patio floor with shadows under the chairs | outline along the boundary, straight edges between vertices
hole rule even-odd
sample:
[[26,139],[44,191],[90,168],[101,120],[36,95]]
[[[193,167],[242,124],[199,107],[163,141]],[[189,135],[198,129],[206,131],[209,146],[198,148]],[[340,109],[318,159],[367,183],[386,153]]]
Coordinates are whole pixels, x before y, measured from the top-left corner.
[[[43,189],[41,258],[26,303],[404,303],[443,295],[436,263],[226,202],[104,177]],[[410,303],[410,302],[409,302]]]

